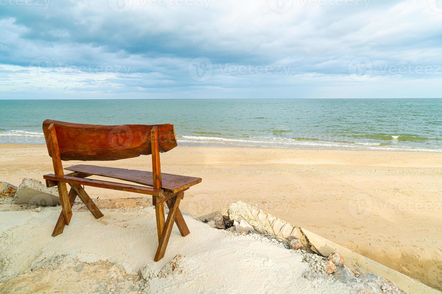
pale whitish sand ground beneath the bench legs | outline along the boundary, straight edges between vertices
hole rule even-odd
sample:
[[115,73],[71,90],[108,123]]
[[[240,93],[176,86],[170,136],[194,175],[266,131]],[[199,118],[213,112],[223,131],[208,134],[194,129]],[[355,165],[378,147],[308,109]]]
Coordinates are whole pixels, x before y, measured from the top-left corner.
[[[134,212],[104,209],[99,220],[90,212],[74,211],[71,224],[54,238],[51,233],[59,213],[60,208],[0,212],[0,291],[1,283],[10,279],[8,283],[13,283],[30,268],[36,271],[64,255],[66,260],[84,263],[109,261],[136,274],[146,265],[159,271],[181,254],[179,270],[149,279],[147,292],[351,293],[351,288],[337,281],[302,278],[307,264],[292,250],[217,230],[190,216],[184,218],[191,234],[182,237],[174,226],[164,258],[154,262],[157,237],[152,207]],[[76,292],[80,283],[70,281],[65,290]],[[42,291],[36,284],[32,287],[32,291]]]

